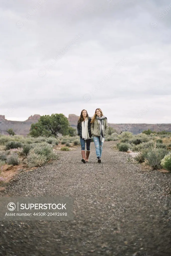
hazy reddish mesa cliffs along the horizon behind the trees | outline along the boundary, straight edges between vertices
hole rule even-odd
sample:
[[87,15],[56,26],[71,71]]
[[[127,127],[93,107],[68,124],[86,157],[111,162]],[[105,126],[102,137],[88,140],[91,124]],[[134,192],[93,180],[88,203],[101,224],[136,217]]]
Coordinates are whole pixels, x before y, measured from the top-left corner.
[[[26,121],[9,121],[5,119],[4,115],[0,115],[0,132],[2,134],[7,134],[6,130],[12,128],[15,134],[27,136],[30,130],[30,126],[32,123],[38,122],[40,115],[31,115]],[[73,128],[77,128],[78,116],[75,114],[69,114],[68,121]],[[128,124],[108,124],[109,126],[116,129],[120,132],[122,129],[127,127],[129,132],[133,134],[141,133],[144,130],[151,129],[152,131],[168,131],[171,132],[171,124],[130,124],[130,128],[128,128]]]

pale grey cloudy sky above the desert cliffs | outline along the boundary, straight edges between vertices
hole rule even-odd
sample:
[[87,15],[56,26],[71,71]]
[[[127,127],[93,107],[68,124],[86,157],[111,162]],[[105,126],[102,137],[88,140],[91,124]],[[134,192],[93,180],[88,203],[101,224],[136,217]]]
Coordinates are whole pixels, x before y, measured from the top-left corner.
[[0,14],[6,119],[101,108],[109,123],[171,123],[171,2],[9,0]]

